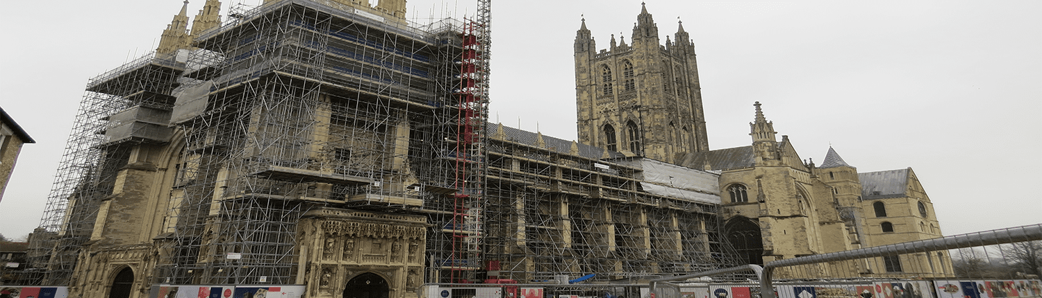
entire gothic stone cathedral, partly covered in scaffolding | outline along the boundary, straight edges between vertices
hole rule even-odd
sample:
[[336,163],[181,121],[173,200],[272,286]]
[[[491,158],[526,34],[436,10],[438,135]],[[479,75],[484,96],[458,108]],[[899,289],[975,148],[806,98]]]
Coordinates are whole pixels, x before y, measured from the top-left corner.
[[[683,25],[660,40],[646,7],[631,45],[598,50],[582,21],[568,141],[488,123],[480,24],[411,23],[404,2],[271,0],[222,22],[207,0],[191,28],[185,3],[154,54],[88,84],[28,281],[77,297],[415,297],[941,235],[911,168],[859,173],[832,148],[804,163],[760,103],[750,145],[710,150],[694,43]],[[895,255],[823,277],[949,263]]]

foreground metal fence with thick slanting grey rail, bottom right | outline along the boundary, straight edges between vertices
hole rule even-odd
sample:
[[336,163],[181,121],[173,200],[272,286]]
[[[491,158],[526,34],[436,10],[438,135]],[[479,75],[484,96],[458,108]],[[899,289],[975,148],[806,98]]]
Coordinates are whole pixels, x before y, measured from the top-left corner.
[[[648,297],[1040,297],[1039,271],[1042,224],[1034,224],[655,278]],[[683,280],[736,273],[755,279],[710,283],[702,295],[678,291]]]

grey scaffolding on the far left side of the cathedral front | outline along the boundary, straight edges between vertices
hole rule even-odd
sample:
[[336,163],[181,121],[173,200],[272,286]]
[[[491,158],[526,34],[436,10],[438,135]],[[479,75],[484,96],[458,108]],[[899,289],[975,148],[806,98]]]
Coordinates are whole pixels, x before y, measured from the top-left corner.
[[183,71],[177,58],[145,55],[89,81],[29,247],[35,274],[22,282],[69,282],[100,204],[113,194],[132,147],[169,141],[171,130],[155,119],[174,105],[171,93]]

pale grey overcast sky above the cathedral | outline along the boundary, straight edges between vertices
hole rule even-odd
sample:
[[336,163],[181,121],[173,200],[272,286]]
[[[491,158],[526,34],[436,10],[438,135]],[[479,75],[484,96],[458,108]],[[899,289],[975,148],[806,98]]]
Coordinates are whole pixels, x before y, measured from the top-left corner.
[[[679,17],[695,42],[711,148],[750,144],[759,101],[803,159],[832,144],[859,171],[912,167],[945,235],[1042,222],[1042,1],[646,1],[663,39]],[[410,1],[408,16],[462,18],[475,3]],[[154,49],[181,5],[4,3],[0,106],[38,143],[22,150],[0,234],[39,224],[88,79]],[[640,9],[494,2],[492,120],[574,139],[580,16],[605,48],[611,34],[628,43]]]

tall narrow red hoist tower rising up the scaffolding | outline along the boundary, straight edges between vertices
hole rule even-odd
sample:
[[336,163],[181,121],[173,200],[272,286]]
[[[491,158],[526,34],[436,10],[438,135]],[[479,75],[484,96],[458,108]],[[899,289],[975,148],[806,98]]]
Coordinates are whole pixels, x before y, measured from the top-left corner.
[[[450,282],[473,282],[481,269],[486,207],[486,126],[489,115],[490,0],[478,1],[477,20],[464,19],[456,88],[456,147]],[[444,268],[444,267],[443,267]]]

